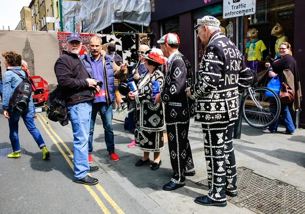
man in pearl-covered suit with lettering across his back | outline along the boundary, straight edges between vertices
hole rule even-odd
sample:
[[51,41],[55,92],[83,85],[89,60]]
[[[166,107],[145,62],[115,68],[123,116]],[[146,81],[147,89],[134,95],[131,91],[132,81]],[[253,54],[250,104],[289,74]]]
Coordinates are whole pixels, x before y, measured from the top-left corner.
[[238,118],[238,95],[252,82],[252,74],[238,48],[220,32],[213,16],[197,19],[195,31],[206,50],[199,64],[198,82],[186,89],[197,99],[195,122],[202,125],[209,191],[195,199],[206,206],[226,206],[226,195],[237,196],[233,126]]

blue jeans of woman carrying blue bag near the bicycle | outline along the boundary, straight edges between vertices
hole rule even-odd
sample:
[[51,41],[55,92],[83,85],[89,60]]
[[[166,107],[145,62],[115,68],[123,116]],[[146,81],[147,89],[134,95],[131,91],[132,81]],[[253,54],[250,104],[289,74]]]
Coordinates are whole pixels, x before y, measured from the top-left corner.
[[[271,106],[271,103],[270,103],[270,106]],[[294,128],[294,125],[293,125],[291,114],[289,112],[288,104],[281,104],[280,115],[282,115],[282,117],[284,119],[284,123],[285,123],[285,126],[286,126],[286,132],[287,133],[294,132],[295,128]],[[268,130],[270,132],[277,132],[278,131],[279,119],[280,119],[280,117],[277,119],[277,121],[274,124],[271,124],[269,126]]]

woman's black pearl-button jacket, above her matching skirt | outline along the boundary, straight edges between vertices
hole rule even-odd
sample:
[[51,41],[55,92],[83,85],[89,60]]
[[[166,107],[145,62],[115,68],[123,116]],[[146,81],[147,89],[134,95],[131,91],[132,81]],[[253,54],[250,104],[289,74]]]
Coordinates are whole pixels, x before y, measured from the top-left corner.
[[[139,83],[143,81],[148,70],[142,73],[139,78]],[[135,101],[135,125],[136,128],[142,131],[158,132],[165,128],[164,121],[164,105],[163,103],[154,104],[151,91],[151,81],[160,81],[160,88],[163,87],[164,76],[161,71],[155,70],[150,74],[148,79],[144,80],[145,83],[138,88],[138,94]]]

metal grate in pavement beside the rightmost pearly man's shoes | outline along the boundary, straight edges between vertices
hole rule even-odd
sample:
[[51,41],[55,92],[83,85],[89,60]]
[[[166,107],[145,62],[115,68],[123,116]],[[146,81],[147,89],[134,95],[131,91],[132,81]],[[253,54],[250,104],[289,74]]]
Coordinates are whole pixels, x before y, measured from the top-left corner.
[[[237,168],[238,196],[227,197],[239,207],[257,213],[305,213],[305,192],[279,180],[271,180],[255,174],[246,167]],[[207,179],[197,183],[207,187]]]

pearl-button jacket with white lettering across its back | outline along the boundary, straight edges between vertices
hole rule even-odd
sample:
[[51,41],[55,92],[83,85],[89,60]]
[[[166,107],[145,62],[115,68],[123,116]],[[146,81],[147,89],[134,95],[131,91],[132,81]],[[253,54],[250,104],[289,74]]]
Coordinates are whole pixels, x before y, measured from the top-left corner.
[[228,124],[238,118],[239,92],[252,82],[238,48],[221,33],[210,39],[201,63],[198,82],[190,88],[197,99],[195,122]]

